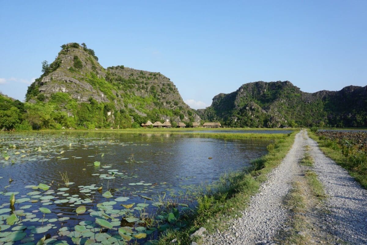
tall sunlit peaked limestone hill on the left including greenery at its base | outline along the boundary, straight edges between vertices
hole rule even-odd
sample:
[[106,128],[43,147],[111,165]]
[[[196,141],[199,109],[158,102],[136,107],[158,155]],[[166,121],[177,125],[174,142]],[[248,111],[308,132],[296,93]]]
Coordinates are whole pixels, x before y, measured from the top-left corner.
[[29,86],[24,110],[17,111],[19,117],[3,127],[11,129],[22,121],[33,129],[127,128],[139,127],[147,120],[200,121],[162,74],[122,65],[105,69],[85,43],[61,48],[54,62],[42,62],[43,74]]

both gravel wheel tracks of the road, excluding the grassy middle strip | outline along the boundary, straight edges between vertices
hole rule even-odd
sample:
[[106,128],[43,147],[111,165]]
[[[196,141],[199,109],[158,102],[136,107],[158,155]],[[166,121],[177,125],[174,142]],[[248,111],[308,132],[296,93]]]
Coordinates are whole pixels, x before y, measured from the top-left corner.
[[[305,137],[304,137],[305,135]],[[327,200],[323,206],[330,211],[320,223],[323,230],[348,244],[367,244],[367,190],[363,189],[343,168],[326,157],[317,143],[299,132],[281,164],[268,175],[259,193],[254,195],[243,217],[230,220],[226,232],[207,235],[203,244],[273,244],[273,238],[285,228],[289,213],[283,200],[291,189],[295,176],[301,174],[298,162],[304,156],[304,146],[315,160],[313,170],[324,185]],[[343,243],[344,244],[344,243]]]

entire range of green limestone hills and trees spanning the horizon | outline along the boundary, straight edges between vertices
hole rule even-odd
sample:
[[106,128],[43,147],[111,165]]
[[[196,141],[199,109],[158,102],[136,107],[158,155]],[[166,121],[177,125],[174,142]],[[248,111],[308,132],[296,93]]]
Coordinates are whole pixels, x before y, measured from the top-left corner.
[[28,87],[26,102],[0,95],[0,128],[138,128],[218,121],[226,127],[367,127],[367,86],[302,92],[289,81],[255,82],[219,94],[207,109],[183,102],[169,78],[123,65],[107,69],[85,43],[61,46]]

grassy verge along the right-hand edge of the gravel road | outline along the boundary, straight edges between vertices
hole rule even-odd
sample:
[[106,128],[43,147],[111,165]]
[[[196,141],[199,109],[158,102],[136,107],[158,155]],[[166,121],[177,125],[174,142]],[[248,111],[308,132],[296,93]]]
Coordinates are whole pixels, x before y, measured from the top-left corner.
[[333,159],[341,167],[348,170],[357,182],[367,189],[367,152],[355,147],[340,145],[335,140],[324,139],[308,131],[308,135],[315,140],[323,153]]

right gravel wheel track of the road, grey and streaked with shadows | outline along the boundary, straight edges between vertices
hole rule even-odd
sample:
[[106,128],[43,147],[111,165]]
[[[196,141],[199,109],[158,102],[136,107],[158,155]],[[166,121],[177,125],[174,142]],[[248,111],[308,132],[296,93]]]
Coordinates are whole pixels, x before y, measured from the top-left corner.
[[326,157],[317,143],[308,138],[314,171],[329,198],[326,216],[329,232],[349,244],[367,244],[367,190],[363,189],[345,169]]

